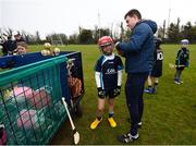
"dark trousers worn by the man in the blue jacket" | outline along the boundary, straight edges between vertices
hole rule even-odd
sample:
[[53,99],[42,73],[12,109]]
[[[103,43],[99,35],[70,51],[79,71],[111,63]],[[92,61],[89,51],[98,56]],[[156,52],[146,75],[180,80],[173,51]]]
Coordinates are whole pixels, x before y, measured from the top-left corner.
[[127,74],[125,84],[126,105],[131,117],[131,134],[137,134],[137,124],[142,121],[144,101],[143,93],[148,73]]

